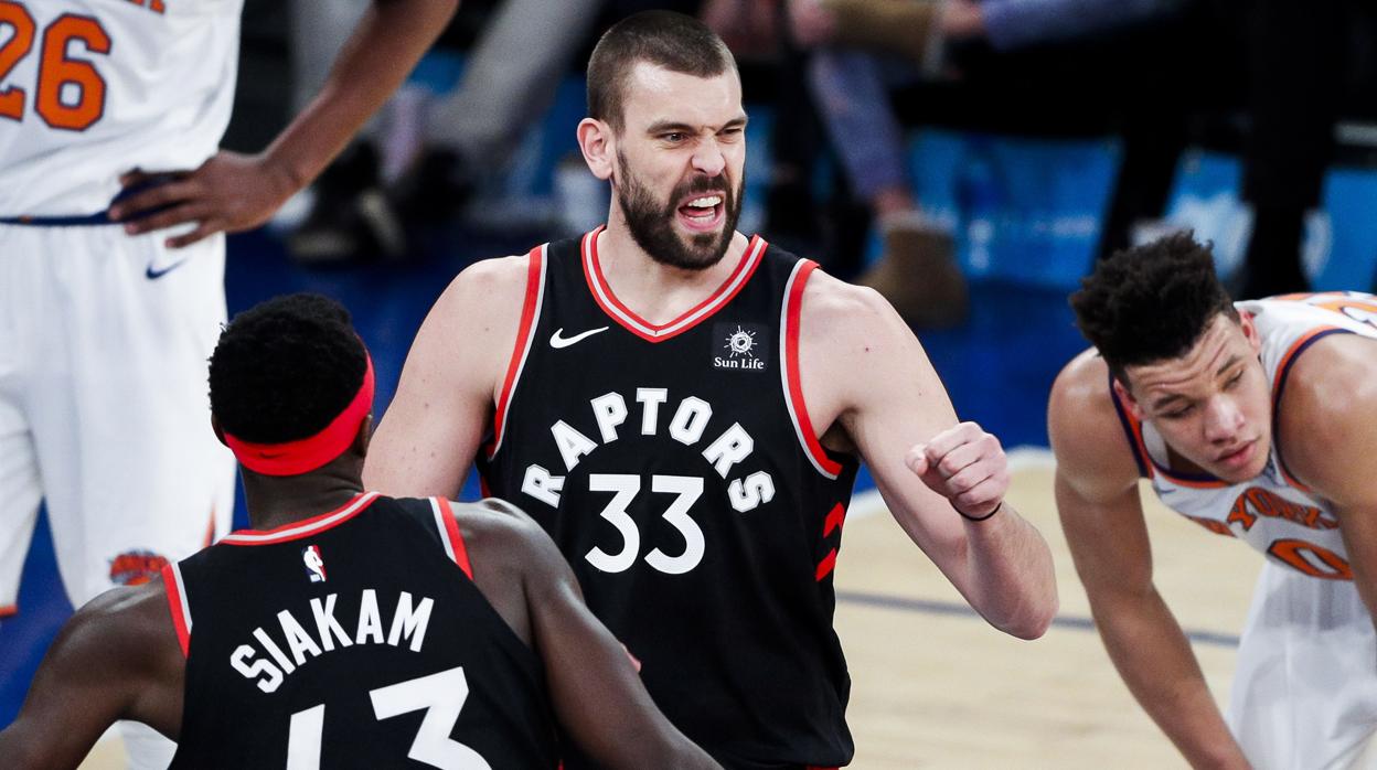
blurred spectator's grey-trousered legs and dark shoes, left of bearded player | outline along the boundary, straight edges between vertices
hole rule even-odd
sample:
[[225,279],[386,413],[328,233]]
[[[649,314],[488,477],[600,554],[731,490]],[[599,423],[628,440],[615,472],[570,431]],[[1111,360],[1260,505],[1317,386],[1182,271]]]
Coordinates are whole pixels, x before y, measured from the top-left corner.
[[[297,92],[310,94],[333,56],[339,30],[364,0],[297,0]],[[461,212],[500,179],[541,120],[559,84],[591,47],[592,30],[649,8],[695,12],[698,0],[489,0],[465,3],[457,23],[476,28],[454,91],[403,88],[350,154],[317,186],[307,220],[289,237],[306,262],[398,258],[408,233]],[[476,19],[476,21],[475,21]],[[324,33],[322,33],[324,32]],[[570,146],[573,147],[571,138]]]

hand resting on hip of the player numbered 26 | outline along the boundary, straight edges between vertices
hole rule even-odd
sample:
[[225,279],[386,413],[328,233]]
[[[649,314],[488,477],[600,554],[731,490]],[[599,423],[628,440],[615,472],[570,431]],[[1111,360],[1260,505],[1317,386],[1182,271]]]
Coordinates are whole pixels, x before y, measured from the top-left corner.
[[162,230],[187,222],[196,229],[175,238],[168,247],[180,248],[215,233],[238,233],[269,220],[296,191],[291,174],[277,168],[264,156],[242,156],[222,150],[196,171],[146,174],[135,169],[120,178],[127,190],[164,176],[164,183],[110,207],[110,216],[127,220],[131,236]]

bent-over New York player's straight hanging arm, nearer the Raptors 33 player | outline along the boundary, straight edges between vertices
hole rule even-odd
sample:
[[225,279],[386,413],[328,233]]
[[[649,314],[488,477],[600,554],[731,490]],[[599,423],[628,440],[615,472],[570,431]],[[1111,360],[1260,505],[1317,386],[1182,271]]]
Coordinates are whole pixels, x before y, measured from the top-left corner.
[[1056,507],[1114,667],[1192,767],[1248,767],[1186,634],[1153,584],[1137,464],[1103,361],[1081,355],[1052,386]]

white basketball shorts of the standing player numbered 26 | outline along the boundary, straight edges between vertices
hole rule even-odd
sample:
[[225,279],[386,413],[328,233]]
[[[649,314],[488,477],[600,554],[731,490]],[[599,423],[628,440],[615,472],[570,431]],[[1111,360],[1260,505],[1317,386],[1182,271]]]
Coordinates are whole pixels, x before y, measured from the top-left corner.
[[224,238],[0,223],[0,607],[40,499],[74,606],[229,530],[234,459],[211,430]]

